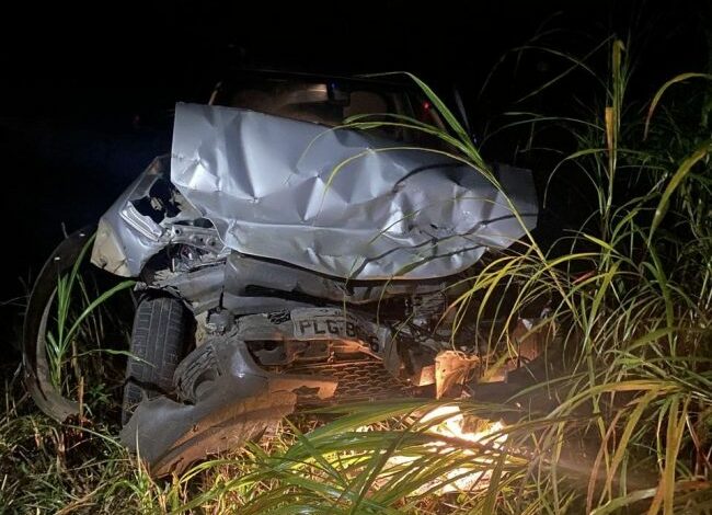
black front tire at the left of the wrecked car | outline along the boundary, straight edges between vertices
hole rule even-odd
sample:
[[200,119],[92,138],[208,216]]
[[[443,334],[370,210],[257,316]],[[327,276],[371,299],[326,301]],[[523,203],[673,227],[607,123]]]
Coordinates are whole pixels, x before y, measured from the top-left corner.
[[143,396],[173,390],[173,373],[185,354],[187,322],[187,310],[176,298],[145,298],[139,302],[126,365],[123,424]]

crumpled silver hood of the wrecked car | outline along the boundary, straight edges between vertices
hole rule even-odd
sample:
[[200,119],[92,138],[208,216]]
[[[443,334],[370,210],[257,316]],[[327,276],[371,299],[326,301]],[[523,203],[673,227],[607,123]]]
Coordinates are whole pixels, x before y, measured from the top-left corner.
[[[179,103],[171,182],[239,252],[332,276],[430,278],[525,231],[478,170],[367,131]],[[528,170],[497,179],[537,221]]]

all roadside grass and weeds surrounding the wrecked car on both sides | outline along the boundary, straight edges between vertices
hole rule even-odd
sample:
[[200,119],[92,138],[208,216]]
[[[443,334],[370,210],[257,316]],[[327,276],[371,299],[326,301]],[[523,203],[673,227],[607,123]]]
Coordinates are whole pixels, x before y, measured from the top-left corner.
[[[463,399],[448,410],[445,401],[409,399],[300,414],[260,444],[152,480],[115,436],[128,329],[112,306],[125,305],[128,293],[90,295],[79,282],[74,309],[59,308],[58,328],[69,332],[58,329],[50,343],[55,378],[81,399],[83,416],[51,422],[18,374],[4,374],[0,506],[8,513],[712,513],[712,76],[671,77],[652,98],[628,99],[629,47],[610,38],[585,58],[556,53],[563,71],[530,99],[583,76],[595,91],[577,99],[577,115],[517,108],[483,138],[485,151],[489,136],[517,144],[521,159],[546,178],[547,203],[561,203],[551,195],[561,196],[566,184],[583,192],[585,202],[572,201],[585,211],[578,227],[546,245],[538,232],[529,234],[469,279],[451,306],[457,324],[472,306],[482,307],[475,313],[496,308],[502,289],[516,291],[513,320],[546,299],[541,325],[555,332],[547,352],[558,363],[549,380],[498,407]],[[445,129],[402,117],[347,125],[427,131],[496,184],[481,142],[413,80]],[[102,302],[87,312],[94,298]],[[512,345],[507,334],[490,337],[504,352]],[[498,423],[476,440],[437,431],[452,407]]]

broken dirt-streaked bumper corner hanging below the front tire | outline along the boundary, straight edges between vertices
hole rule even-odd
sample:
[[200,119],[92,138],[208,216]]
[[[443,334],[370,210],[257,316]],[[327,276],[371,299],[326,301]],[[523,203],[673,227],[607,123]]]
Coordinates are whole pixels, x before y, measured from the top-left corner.
[[239,447],[294,411],[292,390],[312,389],[320,399],[337,381],[260,368],[234,335],[213,339],[193,351],[175,371],[180,402],[143,399],[120,438],[138,451],[154,476],[181,472],[206,454]]

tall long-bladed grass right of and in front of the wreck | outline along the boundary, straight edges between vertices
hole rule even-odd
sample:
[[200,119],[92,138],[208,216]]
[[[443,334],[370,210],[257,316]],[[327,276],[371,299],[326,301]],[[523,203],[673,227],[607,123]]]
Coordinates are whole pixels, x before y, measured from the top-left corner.
[[[255,464],[256,472],[200,499],[271,479],[276,485],[249,500],[241,513],[428,512],[433,493],[452,483],[453,471],[487,471],[484,488],[438,497],[438,510],[517,514],[712,510],[712,141],[708,127],[698,127],[704,131],[699,135],[681,135],[674,128],[677,113],[669,106],[659,110],[670,87],[690,88],[677,83],[709,77],[674,78],[647,108],[640,108],[625,101],[630,79],[625,46],[612,39],[607,48],[609,80],[604,81],[605,104],[595,110],[595,117],[548,117],[574,126],[577,144],[551,180],[573,164],[595,193],[595,210],[567,238],[571,251],[554,254],[527,234],[524,250],[484,266],[452,307],[461,318],[471,316],[466,308],[476,299],[475,311],[481,314],[487,304],[499,301],[495,293],[516,287],[514,318],[532,299],[554,299],[547,322],[563,329],[565,368],[515,400],[522,407],[532,399],[555,402],[544,410],[520,409],[516,421],[502,430],[506,445],[490,440],[475,449],[464,442],[444,443],[441,436],[426,432],[433,423],[422,424],[415,415],[424,409],[423,401],[351,407],[287,450],[263,457]],[[476,167],[498,185],[452,113],[414,80],[438,108],[447,130],[403,117],[387,122],[359,117],[348,126],[369,129],[388,124],[427,131],[449,145],[456,159]],[[542,119],[535,117],[537,123]],[[666,138],[675,142],[665,142]],[[512,203],[509,207],[514,209]],[[582,275],[582,270],[587,273]],[[461,400],[458,405],[480,416],[492,413],[492,407],[481,401]],[[387,421],[395,425],[359,431]],[[440,445],[434,446],[434,440]],[[393,465],[394,456],[409,459]]]

